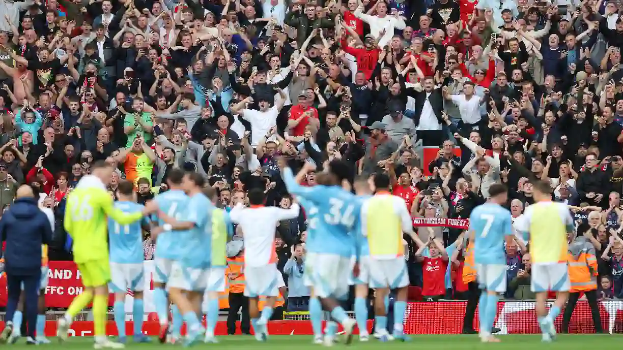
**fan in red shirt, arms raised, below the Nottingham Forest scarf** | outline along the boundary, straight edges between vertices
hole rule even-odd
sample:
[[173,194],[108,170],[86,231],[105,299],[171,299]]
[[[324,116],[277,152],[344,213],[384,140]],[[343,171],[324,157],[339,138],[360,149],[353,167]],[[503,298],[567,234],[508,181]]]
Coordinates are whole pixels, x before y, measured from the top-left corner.
[[[444,244],[435,239],[432,230],[429,231],[429,239],[426,244],[417,249],[416,259],[422,262],[422,297],[424,300],[432,301],[445,296],[445,270],[448,267],[448,254],[445,252]],[[425,254],[426,250],[429,254]]]

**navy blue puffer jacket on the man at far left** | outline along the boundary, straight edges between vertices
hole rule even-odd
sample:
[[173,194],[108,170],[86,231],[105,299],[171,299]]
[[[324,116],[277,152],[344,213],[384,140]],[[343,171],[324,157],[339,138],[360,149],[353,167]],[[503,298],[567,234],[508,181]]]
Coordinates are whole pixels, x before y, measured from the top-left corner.
[[18,198],[0,219],[0,236],[6,241],[7,274],[35,275],[41,269],[41,245],[52,239],[50,221],[34,198]]

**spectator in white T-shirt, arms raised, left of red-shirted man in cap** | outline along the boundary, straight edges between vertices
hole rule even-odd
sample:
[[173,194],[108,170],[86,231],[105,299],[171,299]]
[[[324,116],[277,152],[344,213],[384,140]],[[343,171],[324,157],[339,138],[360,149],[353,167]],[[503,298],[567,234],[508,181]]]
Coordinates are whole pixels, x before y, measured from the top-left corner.
[[253,103],[252,97],[245,98],[242,102],[232,106],[231,113],[239,114],[246,121],[251,123],[251,145],[256,147],[259,144],[260,139],[264,135],[268,134],[270,127],[277,126],[277,116],[279,111],[283,108],[285,103],[285,93],[280,88],[276,88],[279,93],[279,98],[276,100],[275,106],[270,106],[272,101],[268,101],[265,98],[260,98],[257,105],[259,111],[256,109],[242,109],[244,105]]

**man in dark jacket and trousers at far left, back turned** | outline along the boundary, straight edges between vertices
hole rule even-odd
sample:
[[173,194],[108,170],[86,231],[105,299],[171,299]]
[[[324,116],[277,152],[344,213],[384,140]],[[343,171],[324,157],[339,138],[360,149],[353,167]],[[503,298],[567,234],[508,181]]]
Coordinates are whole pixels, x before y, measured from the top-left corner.
[[[27,343],[37,344],[37,299],[41,279],[42,244],[50,244],[52,228],[43,211],[39,210],[35,192],[29,185],[17,189],[16,201],[0,219],[0,237],[6,241],[4,266],[7,279],[8,301],[6,320],[12,320],[24,284],[26,296]],[[12,321],[7,321],[0,333],[0,343],[9,339],[13,331]]]

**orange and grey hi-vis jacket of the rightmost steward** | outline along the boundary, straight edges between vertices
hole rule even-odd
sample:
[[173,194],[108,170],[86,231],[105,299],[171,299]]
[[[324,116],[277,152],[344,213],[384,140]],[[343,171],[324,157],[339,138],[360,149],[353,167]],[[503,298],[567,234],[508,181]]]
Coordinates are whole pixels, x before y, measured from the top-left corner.
[[595,247],[584,236],[579,236],[569,244],[568,252],[569,292],[586,292],[597,289],[597,259]]

